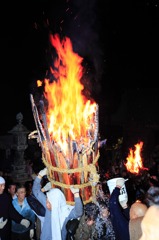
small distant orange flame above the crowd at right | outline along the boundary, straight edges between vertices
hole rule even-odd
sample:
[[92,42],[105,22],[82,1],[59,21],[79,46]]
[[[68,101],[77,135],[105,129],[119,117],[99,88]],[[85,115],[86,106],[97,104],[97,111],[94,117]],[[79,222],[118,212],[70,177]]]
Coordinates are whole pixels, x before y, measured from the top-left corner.
[[130,152],[128,157],[126,158],[127,163],[125,164],[127,170],[131,173],[138,174],[140,169],[145,169],[143,167],[142,158],[141,158],[141,150],[143,147],[143,142],[137,143],[135,145],[135,151],[130,148]]

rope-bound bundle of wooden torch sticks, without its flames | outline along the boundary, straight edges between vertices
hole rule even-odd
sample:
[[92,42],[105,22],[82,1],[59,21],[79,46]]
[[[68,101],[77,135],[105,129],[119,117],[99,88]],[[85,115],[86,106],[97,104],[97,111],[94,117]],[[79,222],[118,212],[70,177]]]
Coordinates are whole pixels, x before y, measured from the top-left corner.
[[45,108],[40,101],[38,111],[33,96],[30,95],[33,117],[38,134],[38,142],[42,149],[42,159],[48,168],[48,178],[53,187],[59,187],[65,194],[67,203],[74,205],[74,197],[70,185],[80,189],[85,203],[95,200],[95,186],[99,181],[96,166],[99,158],[98,149],[98,106],[88,129],[87,142],[82,139],[67,138],[67,152],[50,138]]

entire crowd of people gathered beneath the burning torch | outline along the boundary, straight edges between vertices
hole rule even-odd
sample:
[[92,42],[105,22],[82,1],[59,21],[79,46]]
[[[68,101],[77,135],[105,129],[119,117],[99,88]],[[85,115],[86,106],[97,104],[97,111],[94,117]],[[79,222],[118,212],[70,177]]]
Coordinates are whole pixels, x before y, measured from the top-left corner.
[[[95,201],[83,204],[80,189],[70,186],[73,206],[47,175],[45,167],[26,184],[0,176],[0,240],[159,239],[157,174],[132,176],[116,168],[101,174]],[[112,192],[107,185],[111,178],[116,179]],[[123,186],[128,197],[121,200]]]

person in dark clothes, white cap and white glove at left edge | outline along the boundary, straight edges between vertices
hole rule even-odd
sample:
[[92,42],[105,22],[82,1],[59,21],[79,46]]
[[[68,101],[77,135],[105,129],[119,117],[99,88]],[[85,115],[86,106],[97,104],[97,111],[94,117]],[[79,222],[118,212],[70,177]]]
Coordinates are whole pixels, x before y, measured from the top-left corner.
[[19,214],[12,205],[8,193],[4,192],[5,179],[0,177],[0,239],[11,240],[11,220],[29,227],[30,221]]

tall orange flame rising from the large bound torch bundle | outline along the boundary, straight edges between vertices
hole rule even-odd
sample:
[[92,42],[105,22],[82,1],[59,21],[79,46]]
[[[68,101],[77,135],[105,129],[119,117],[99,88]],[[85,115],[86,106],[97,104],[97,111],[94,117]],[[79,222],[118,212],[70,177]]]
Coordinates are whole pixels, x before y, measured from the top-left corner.
[[54,69],[51,68],[56,81],[44,80],[44,96],[48,101],[46,117],[51,139],[66,153],[68,140],[78,143],[82,140],[84,145],[90,141],[97,105],[82,95],[83,58],[73,52],[70,39],[60,41],[56,34],[51,36],[51,43],[58,58]]

